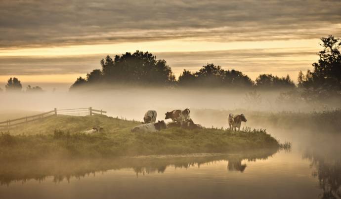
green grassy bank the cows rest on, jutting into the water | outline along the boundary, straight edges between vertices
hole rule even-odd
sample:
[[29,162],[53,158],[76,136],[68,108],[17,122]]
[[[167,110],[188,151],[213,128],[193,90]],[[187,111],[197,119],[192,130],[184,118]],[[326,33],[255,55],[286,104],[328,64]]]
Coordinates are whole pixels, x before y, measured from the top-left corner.
[[[157,133],[130,132],[137,124],[140,123],[106,116],[49,118],[22,126],[10,134],[1,133],[0,159],[103,158],[279,148],[277,140],[261,129],[236,132],[170,128]],[[82,133],[96,125],[103,127],[103,132]]]

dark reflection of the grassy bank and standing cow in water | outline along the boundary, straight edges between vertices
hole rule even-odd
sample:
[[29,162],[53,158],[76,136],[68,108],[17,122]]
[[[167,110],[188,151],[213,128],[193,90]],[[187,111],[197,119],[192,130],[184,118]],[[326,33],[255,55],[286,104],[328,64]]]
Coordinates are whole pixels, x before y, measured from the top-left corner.
[[96,172],[107,170],[119,170],[132,168],[136,175],[148,173],[164,173],[167,167],[189,168],[219,160],[228,161],[228,170],[244,171],[246,165],[241,161],[244,159],[256,161],[267,159],[276,153],[272,151],[256,151],[244,154],[195,154],[184,156],[146,156],[119,159],[92,159],[92,160],[65,160],[65,161],[30,161],[17,163],[3,163],[0,165],[0,184],[9,185],[11,182],[34,179],[44,181],[53,176],[53,182],[61,182],[70,178],[80,179]]

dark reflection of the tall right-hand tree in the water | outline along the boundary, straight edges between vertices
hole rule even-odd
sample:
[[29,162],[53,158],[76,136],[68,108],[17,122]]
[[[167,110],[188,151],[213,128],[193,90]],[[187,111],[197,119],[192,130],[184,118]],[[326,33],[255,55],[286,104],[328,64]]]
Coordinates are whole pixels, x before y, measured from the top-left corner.
[[303,158],[311,161],[315,168],[312,175],[318,177],[323,189],[321,199],[341,199],[341,156],[337,150],[331,153],[307,150]]

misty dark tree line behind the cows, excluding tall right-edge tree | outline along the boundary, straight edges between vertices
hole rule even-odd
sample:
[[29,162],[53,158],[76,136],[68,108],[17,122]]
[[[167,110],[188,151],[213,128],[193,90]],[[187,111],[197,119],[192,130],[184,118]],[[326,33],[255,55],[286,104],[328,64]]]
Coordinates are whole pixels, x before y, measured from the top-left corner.
[[237,70],[224,70],[221,66],[207,64],[197,72],[184,70],[175,79],[171,67],[165,60],[158,60],[149,52],[136,51],[109,55],[100,61],[102,69],[96,69],[79,77],[70,90],[87,85],[119,84],[139,86],[171,86],[171,87],[257,87],[257,88],[293,88],[295,84],[287,77],[277,77],[271,74],[259,75],[256,81]]

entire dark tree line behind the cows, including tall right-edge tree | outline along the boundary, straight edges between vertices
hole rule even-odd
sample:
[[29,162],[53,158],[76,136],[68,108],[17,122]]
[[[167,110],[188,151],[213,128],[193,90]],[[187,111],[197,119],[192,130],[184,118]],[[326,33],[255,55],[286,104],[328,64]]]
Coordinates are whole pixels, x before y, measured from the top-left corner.
[[237,70],[224,70],[214,64],[204,65],[197,72],[184,70],[175,79],[171,67],[165,60],[158,60],[149,52],[109,55],[100,61],[101,69],[93,70],[86,78],[79,77],[70,90],[95,84],[149,85],[171,87],[210,88],[297,88],[306,98],[323,98],[341,95],[341,40],[334,36],[321,38],[323,49],[317,53],[319,59],[313,70],[298,74],[298,84],[287,75],[277,77],[261,74],[255,81]]

